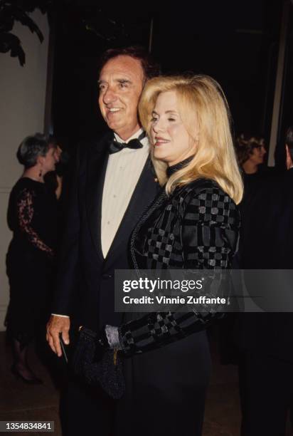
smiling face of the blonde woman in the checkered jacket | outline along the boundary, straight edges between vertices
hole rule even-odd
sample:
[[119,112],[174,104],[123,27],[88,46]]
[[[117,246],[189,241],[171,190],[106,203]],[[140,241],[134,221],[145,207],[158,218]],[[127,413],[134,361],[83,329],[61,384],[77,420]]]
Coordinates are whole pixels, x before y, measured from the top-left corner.
[[[198,136],[196,126],[194,136]],[[151,120],[151,142],[154,157],[169,166],[196,152],[196,142],[182,123],[175,90],[160,93],[156,99]]]

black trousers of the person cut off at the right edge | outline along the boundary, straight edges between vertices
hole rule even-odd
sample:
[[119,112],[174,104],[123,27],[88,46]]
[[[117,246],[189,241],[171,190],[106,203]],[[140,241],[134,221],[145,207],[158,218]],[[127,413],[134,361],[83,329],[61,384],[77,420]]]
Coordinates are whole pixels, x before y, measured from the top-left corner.
[[284,436],[293,399],[293,362],[243,353],[240,370],[242,436]]

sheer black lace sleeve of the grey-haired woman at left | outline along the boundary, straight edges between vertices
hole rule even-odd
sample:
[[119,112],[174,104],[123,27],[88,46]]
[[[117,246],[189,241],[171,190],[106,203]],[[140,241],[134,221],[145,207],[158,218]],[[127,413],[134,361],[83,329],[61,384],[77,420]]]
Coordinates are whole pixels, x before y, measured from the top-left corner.
[[26,234],[29,242],[31,242],[33,246],[36,246],[37,249],[45,251],[50,256],[53,256],[53,250],[41,240],[37,232],[33,229],[33,227],[31,227],[33,213],[33,192],[24,189],[21,191],[17,201],[19,227],[21,228],[21,231]]

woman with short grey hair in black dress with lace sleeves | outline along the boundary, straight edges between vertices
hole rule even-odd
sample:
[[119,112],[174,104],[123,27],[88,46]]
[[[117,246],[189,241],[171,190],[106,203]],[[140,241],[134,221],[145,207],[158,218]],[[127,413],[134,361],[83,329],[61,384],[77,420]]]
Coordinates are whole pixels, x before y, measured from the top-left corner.
[[9,198],[13,238],[6,257],[10,285],[6,326],[14,348],[12,372],[36,384],[41,380],[28,367],[27,346],[46,321],[57,226],[57,199],[43,177],[55,169],[58,155],[55,145],[36,133],[21,142],[17,158],[24,171]]

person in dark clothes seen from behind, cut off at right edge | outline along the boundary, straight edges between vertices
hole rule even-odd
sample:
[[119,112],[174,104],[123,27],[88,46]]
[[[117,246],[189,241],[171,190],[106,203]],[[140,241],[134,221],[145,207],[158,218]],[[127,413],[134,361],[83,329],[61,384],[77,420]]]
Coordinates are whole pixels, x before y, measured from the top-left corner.
[[[293,129],[287,131],[287,172],[255,190],[243,217],[241,267],[293,269]],[[241,241],[241,239],[240,239]],[[292,288],[286,273],[280,289]],[[249,287],[247,288],[249,291]],[[293,313],[241,313],[237,330],[240,348],[240,400],[243,436],[284,436],[293,404]]]

